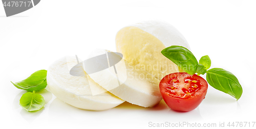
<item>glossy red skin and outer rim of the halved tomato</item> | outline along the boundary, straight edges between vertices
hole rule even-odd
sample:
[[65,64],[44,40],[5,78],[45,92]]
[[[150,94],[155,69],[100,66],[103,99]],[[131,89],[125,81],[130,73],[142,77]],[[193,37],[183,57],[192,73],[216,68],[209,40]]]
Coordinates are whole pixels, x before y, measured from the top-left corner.
[[196,92],[199,92],[200,94],[196,95],[196,96],[187,97],[187,98],[171,96],[168,93],[166,93],[166,90],[165,90],[166,82],[168,81],[168,78],[170,78],[174,75],[179,76],[180,74],[184,75],[187,73],[172,73],[172,74],[166,75],[160,81],[160,84],[159,84],[160,92],[163,97],[163,100],[170,107],[170,109],[175,110],[175,111],[188,112],[188,111],[196,109],[196,107],[203,101],[203,99],[205,98],[205,95],[207,93],[208,83],[204,78],[202,78],[196,74],[193,76],[188,74],[188,76],[192,76],[192,77],[200,80],[203,88],[201,88],[199,91],[196,91]]

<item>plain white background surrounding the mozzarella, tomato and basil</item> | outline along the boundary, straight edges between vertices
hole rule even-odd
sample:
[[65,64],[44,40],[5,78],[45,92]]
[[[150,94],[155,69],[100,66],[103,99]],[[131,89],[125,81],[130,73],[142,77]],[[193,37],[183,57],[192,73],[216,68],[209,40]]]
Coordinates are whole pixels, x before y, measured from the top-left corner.
[[[0,126],[147,128],[148,122],[197,122],[217,123],[219,127],[220,122],[225,122],[227,127],[228,122],[255,122],[255,6],[255,1],[234,0],[44,0],[11,17],[6,17],[0,6]],[[44,90],[46,104],[42,110],[31,113],[18,105],[25,91],[16,89],[10,81],[47,70],[54,60],[65,55],[86,59],[96,48],[115,51],[119,29],[148,19],[172,24],[185,36],[198,59],[209,55],[211,68],[223,68],[236,75],[243,87],[242,97],[236,101],[209,87],[199,107],[187,113],[170,110],[164,101],[153,108],[125,102],[108,111],[93,112],[76,109]]]

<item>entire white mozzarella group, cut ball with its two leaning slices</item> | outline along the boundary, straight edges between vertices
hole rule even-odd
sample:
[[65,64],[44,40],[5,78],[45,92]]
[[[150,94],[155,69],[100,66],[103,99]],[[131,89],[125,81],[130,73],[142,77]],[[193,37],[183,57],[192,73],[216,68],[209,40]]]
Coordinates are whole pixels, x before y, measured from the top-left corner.
[[[108,58],[109,68],[106,69],[101,61],[96,61],[95,65],[84,64],[84,72],[83,64],[78,63],[81,60],[75,56],[59,59],[48,70],[48,87],[56,97],[80,109],[108,110],[123,101],[154,106],[162,99],[159,81],[179,71],[161,54],[162,49],[172,45],[189,49],[181,33],[167,23],[147,21],[122,28],[116,35],[116,49],[124,58],[108,50],[97,50],[90,55],[92,58],[103,54],[110,57],[109,53],[119,58],[118,63],[110,65]],[[100,71],[91,73],[86,66]],[[71,69],[80,76],[72,76]]]

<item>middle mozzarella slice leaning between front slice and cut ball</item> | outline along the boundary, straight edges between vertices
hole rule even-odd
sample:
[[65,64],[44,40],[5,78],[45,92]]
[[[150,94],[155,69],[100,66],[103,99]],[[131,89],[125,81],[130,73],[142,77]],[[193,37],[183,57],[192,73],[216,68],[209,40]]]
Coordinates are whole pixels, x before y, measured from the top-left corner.
[[[110,53],[110,51],[96,50],[90,57],[96,57],[105,53]],[[162,100],[159,91],[159,79],[141,70],[139,67],[135,67],[119,55],[113,52],[111,55],[109,60],[117,59],[121,61],[108,69],[89,74],[96,83],[117,97],[143,107],[154,106]],[[104,67],[102,61],[97,62],[98,64],[95,66]],[[99,67],[99,69],[101,68]]]

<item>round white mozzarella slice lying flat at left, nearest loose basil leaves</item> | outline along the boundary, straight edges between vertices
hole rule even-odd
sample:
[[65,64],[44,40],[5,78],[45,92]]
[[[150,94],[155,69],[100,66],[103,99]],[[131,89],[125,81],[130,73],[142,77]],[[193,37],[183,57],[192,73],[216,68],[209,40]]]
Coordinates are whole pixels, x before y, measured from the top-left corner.
[[[87,77],[82,63],[77,64],[75,56],[66,56],[49,67],[47,84],[57,98],[79,109],[94,111],[112,109],[124,102]],[[72,68],[79,76],[70,74]],[[91,89],[101,94],[93,95]]]

